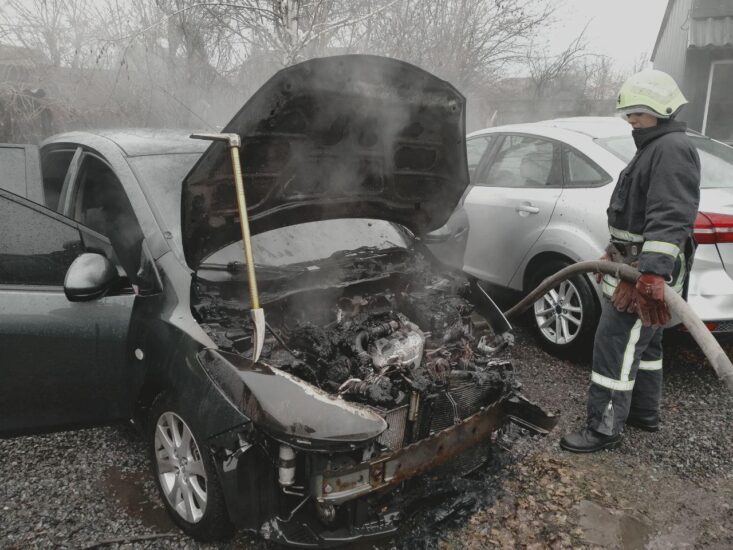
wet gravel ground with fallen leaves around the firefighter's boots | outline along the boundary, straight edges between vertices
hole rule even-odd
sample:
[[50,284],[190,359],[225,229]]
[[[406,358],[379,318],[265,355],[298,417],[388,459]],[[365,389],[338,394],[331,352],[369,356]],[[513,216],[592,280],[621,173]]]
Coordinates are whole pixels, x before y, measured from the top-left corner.
[[[733,341],[721,339],[728,356]],[[560,450],[582,425],[590,361],[563,361],[517,331],[514,360],[524,392],[558,427],[514,448],[504,495],[462,527],[446,548],[733,548],[733,396],[689,336],[665,337],[662,426],[629,428],[619,448]]]

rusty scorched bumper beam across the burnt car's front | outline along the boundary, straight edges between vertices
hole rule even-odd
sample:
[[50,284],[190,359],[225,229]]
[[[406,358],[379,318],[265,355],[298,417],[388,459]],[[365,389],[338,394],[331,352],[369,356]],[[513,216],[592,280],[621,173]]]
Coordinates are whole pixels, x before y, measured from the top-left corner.
[[509,421],[545,435],[555,426],[557,418],[523,396],[510,394],[454,426],[398,451],[314,476],[311,494],[321,504],[339,505],[398,485],[488,440]]

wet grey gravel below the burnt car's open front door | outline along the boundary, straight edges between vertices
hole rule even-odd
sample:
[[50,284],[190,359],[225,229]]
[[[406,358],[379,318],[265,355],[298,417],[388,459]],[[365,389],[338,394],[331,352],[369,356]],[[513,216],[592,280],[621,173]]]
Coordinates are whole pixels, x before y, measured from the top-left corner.
[[198,544],[168,518],[128,425],[0,439],[0,548],[265,548]]

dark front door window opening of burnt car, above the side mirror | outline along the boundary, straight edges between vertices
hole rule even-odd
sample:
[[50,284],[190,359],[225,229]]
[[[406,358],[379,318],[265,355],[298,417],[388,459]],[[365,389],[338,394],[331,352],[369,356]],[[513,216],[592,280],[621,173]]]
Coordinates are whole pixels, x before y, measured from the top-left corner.
[[75,189],[71,217],[110,240],[120,265],[136,283],[143,232],[117,176],[107,163],[86,155]]

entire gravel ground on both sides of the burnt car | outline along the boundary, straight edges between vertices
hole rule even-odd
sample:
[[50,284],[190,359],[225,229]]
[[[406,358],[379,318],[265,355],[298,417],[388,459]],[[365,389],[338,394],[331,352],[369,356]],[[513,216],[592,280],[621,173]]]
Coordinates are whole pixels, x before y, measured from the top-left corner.
[[[557,443],[584,417],[589,362],[553,358],[519,327],[513,357],[524,393],[561,414],[558,428],[516,441],[501,474],[485,473],[495,495],[448,522],[435,545],[733,547],[733,398],[689,338],[670,336],[661,431],[629,429],[615,451],[572,455]],[[2,548],[213,548],[167,518],[127,426],[0,440],[0,479]],[[424,509],[413,525],[441,515]],[[403,533],[379,546],[419,546],[408,541]],[[216,547],[269,546],[239,534]]]

